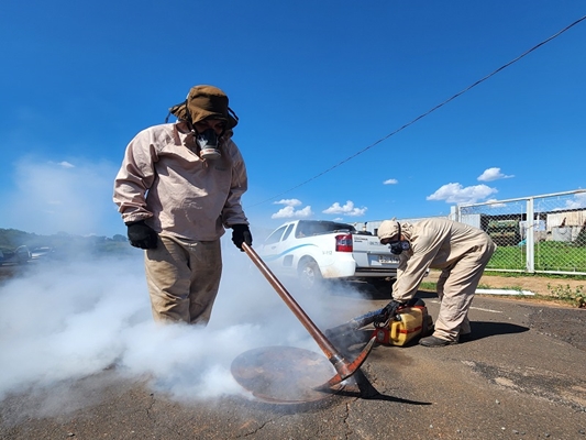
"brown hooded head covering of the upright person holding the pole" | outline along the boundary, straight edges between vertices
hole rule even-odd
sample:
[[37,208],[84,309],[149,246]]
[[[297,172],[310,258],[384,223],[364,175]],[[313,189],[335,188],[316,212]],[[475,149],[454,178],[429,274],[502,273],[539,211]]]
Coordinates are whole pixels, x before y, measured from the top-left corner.
[[195,86],[187,99],[169,109],[177,119],[197,123],[204,119],[220,119],[226,122],[226,130],[239,123],[236,114],[228,107],[228,96],[213,86]]

